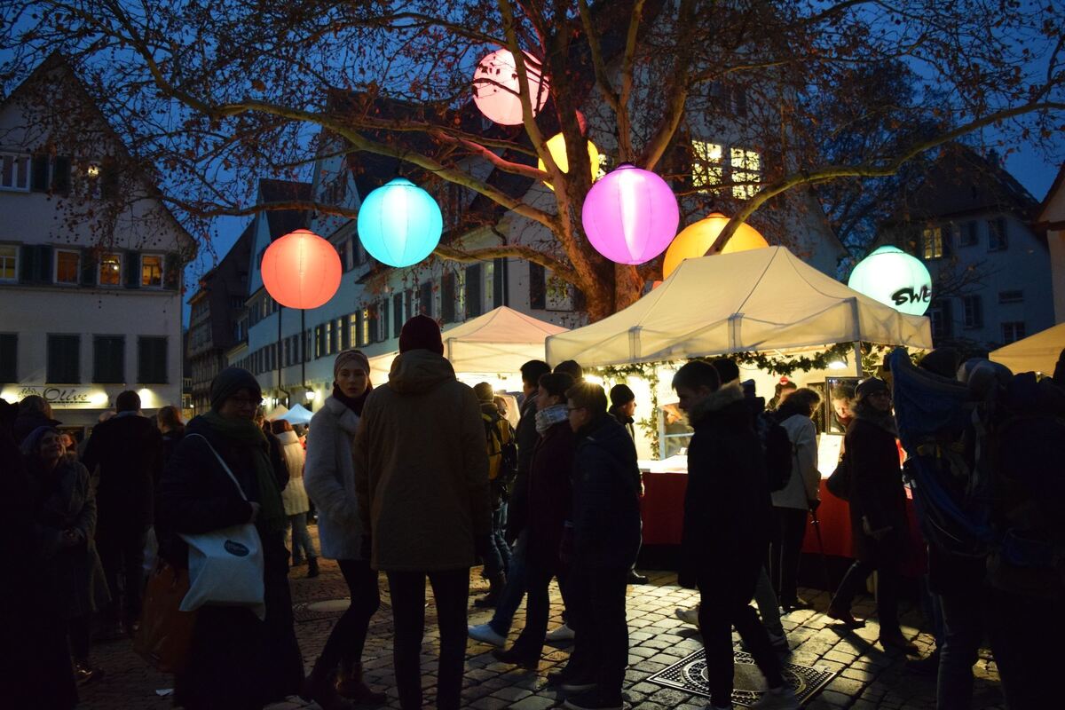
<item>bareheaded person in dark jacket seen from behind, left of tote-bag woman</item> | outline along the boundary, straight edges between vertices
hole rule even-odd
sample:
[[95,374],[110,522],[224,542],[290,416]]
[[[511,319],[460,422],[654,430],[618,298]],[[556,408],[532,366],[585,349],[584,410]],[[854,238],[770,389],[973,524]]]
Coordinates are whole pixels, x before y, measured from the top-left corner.
[[89,473],[99,468],[96,546],[111,589],[109,622],[114,632],[122,633],[132,631],[141,615],[144,546],[154,517],[154,482],[163,468],[163,439],[141,414],[137,393],[120,393],[115,409],[115,416],[93,429],[82,463]]

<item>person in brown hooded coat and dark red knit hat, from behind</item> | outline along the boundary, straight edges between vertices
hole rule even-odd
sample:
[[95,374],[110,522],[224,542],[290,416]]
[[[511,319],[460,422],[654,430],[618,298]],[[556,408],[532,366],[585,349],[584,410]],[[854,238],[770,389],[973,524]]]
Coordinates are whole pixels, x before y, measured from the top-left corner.
[[443,354],[432,318],[408,320],[389,381],[366,401],[355,436],[363,546],[389,577],[403,710],[422,708],[426,578],[440,625],[437,708],[461,707],[470,567],[491,547],[480,407]]

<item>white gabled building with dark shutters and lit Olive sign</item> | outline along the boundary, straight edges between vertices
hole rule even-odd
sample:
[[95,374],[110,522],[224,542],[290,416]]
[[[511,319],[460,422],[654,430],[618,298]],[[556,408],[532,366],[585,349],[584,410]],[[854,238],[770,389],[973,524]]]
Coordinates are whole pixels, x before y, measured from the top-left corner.
[[[50,96],[70,126],[39,112]],[[193,240],[150,184],[116,175],[125,147],[61,56],[0,103],[0,396],[40,395],[71,428],[94,425],[124,390],[146,412],[180,406]]]

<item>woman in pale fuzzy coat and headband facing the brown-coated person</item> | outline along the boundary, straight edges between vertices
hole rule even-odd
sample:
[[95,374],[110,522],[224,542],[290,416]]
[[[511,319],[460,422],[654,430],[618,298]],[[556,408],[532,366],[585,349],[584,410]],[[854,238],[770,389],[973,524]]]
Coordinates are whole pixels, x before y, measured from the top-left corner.
[[305,483],[318,511],[322,555],[337,560],[351,599],[307,677],[305,696],[325,710],[343,707],[338,693],[360,705],[388,700],[384,693],[373,692],[362,680],[362,647],[381,599],[377,573],[362,554],[351,445],[372,389],[366,356],[351,349],[338,354],[332,395],[311,418],[307,439]]

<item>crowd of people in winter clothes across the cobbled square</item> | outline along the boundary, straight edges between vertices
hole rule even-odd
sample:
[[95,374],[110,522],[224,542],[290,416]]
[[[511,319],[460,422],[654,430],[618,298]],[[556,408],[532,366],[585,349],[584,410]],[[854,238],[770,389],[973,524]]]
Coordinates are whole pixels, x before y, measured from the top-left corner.
[[[362,673],[381,573],[405,710],[423,704],[427,583],[440,632],[438,708],[461,706],[468,638],[495,646],[501,662],[531,670],[545,642],[572,639],[569,660],[547,677],[567,694],[566,707],[624,707],[627,585],[646,581],[635,566],[642,495],[635,395],[624,384],[608,395],[573,361],[554,369],[530,361],[521,369],[524,399],[511,428],[506,401],[488,383],[460,383],[443,352],[440,328],[425,316],[405,324],[387,383],[371,382],[362,352],[342,351],[332,393],[306,437],[288,422],[263,422],[256,378],[235,367],[215,378],[210,411],[187,425],[174,407],[145,417],[137,394],[122,392],[114,415],[80,444],[61,432],[39,397],[2,402],[0,456],[13,464],[2,536],[33,579],[3,587],[12,638],[29,645],[12,656],[18,682],[5,681],[4,697],[73,707],[77,684],[103,673],[89,658],[94,629],[110,638],[137,631],[146,552],[187,568],[190,536],[250,525],[261,543],[262,605],[198,609],[187,662],[175,677],[181,707],[262,708],[297,694],[324,710],[383,705],[388,696]],[[952,376],[960,364],[939,351],[922,366]],[[1065,376],[1065,363],[1060,369],[1055,378]],[[1065,393],[1048,381],[1053,390],[1044,387],[1039,401],[1060,416]],[[798,708],[780,656],[788,650],[781,613],[813,608],[798,594],[798,575],[807,515],[820,505],[814,418],[821,395],[782,381],[767,408],[727,359],[688,362],[672,387],[692,429],[678,583],[700,599],[677,615],[702,634],[708,710],[733,707],[733,629],[765,676],[767,691],[754,707]],[[825,614],[863,626],[852,601],[875,572],[879,642],[916,654],[898,621],[910,533],[891,385],[873,377],[831,400],[846,427],[836,491],[849,501],[857,559]],[[1031,442],[1034,451],[1046,445]],[[1015,483],[1046,467],[1026,460],[1025,470],[1002,464],[1012,466]],[[1038,480],[1060,491],[1060,480]],[[350,602],[305,675],[289,574],[305,561],[308,577],[318,574],[312,507],[321,555],[337,561]],[[996,580],[1016,580],[1001,572],[1007,562],[988,575],[989,560],[958,558],[932,541],[929,555],[930,607],[943,624],[936,654],[914,667],[935,666],[937,707],[969,707],[985,631],[1001,656],[1011,710],[1035,707],[1026,683],[1049,668],[1021,649],[1031,629],[992,624],[987,614],[1002,604],[1021,618],[1035,600],[1061,598],[1061,590],[1002,589]],[[474,604],[494,611],[468,626],[470,573],[478,564],[489,592]],[[553,580],[564,623],[548,632]],[[507,647],[523,598],[525,624]]]

